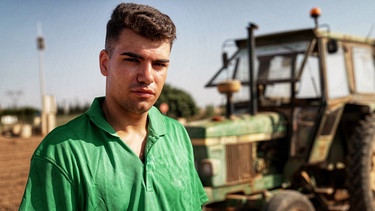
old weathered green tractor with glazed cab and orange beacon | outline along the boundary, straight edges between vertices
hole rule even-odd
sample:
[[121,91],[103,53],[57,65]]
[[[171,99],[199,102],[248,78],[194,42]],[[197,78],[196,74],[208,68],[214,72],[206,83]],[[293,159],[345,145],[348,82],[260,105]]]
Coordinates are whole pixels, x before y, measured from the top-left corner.
[[186,125],[205,210],[375,210],[375,40],[315,28],[235,40]]

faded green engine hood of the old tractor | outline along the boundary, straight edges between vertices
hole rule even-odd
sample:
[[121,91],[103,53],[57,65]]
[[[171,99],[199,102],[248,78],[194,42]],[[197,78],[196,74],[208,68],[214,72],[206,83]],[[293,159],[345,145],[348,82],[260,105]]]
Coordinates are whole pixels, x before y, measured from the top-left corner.
[[232,119],[206,119],[188,123],[185,127],[193,145],[270,140],[287,133],[285,117],[276,112],[236,115]]

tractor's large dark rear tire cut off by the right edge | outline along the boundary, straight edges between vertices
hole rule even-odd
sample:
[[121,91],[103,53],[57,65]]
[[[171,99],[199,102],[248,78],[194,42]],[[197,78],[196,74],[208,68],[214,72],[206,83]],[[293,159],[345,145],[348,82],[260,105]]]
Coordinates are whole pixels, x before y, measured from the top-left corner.
[[355,128],[348,147],[350,210],[375,211],[375,115]]

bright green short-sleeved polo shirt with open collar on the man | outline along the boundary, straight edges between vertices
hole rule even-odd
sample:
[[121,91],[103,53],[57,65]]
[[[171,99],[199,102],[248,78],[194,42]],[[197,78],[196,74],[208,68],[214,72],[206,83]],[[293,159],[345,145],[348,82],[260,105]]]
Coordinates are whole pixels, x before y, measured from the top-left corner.
[[201,210],[185,128],[153,107],[142,162],[105,120],[103,100],[41,142],[20,210]]

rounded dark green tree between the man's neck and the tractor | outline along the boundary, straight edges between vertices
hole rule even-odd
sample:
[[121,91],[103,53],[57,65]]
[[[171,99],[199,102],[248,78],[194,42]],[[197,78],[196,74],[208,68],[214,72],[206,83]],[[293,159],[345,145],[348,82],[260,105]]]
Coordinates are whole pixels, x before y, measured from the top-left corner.
[[168,104],[169,110],[167,115],[172,118],[189,118],[198,113],[198,107],[191,95],[169,84],[164,85],[155,106],[159,108],[162,103]]

